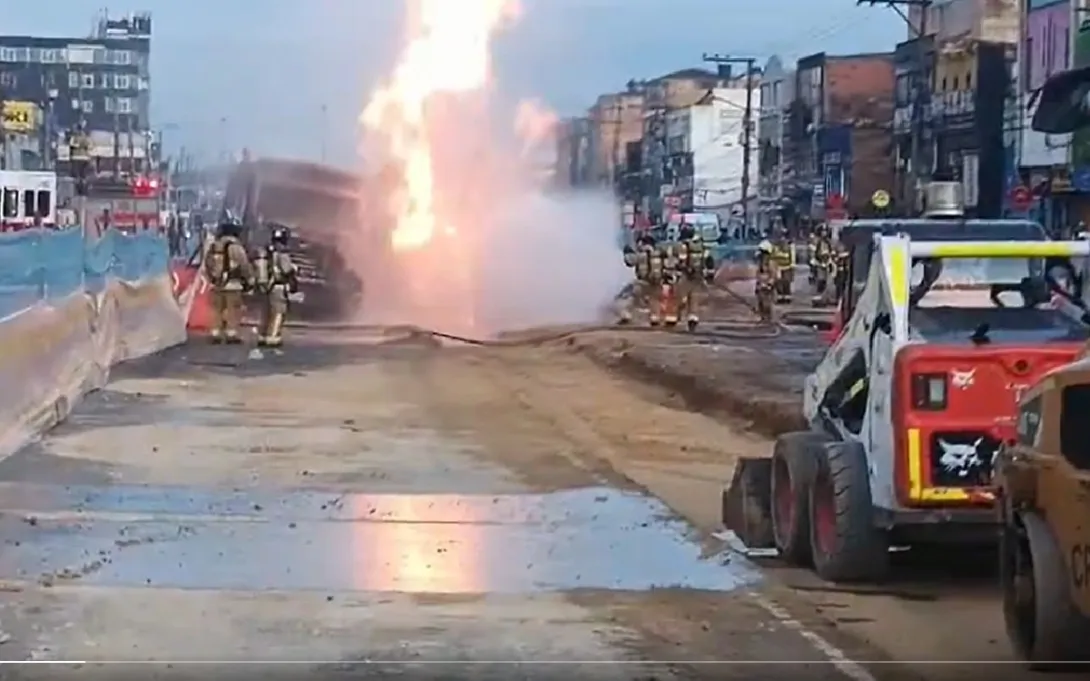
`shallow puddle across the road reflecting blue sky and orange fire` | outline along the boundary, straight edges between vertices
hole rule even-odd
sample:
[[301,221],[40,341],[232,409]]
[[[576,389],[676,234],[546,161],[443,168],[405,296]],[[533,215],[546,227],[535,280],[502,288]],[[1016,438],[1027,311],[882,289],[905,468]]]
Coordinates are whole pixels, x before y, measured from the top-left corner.
[[0,577],[102,586],[528,593],[729,591],[760,579],[707,557],[657,500],[0,485]]

